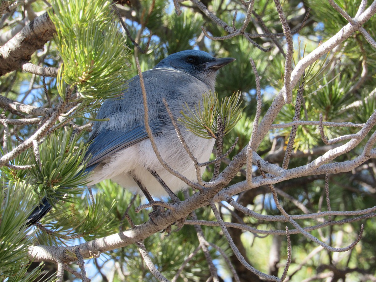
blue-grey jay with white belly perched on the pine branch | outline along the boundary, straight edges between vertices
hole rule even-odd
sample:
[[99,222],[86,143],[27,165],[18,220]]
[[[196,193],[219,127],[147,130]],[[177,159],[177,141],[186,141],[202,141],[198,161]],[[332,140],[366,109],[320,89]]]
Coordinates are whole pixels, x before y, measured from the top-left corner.
[[[143,72],[152,128],[162,158],[168,165],[193,182],[197,181],[193,162],[177,138],[162,99],[165,98],[174,116],[181,116],[185,103],[194,108],[202,94],[214,92],[216,72],[234,61],[233,58],[214,58],[199,50],[174,53],[159,62],[152,70]],[[139,76],[130,79],[120,97],[106,100],[100,107],[89,138],[87,155],[91,155],[86,171],[93,185],[112,179],[124,188],[143,192],[149,201],[152,196],[167,196],[187,185],[170,174],[158,161],[144,124],[144,106]],[[185,130],[182,135],[199,162],[209,160],[214,139],[204,139]],[[201,168],[201,174],[205,167]],[[171,194],[170,194],[171,196]],[[52,206],[47,199],[37,206],[27,220],[28,225],[39,221]]]

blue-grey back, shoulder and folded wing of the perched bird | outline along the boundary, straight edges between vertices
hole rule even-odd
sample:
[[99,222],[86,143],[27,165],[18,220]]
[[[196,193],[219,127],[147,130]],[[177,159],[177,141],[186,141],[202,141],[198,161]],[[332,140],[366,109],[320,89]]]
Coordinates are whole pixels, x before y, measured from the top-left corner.
[[[203,82],[181,71],[161,68],[145,71],[143,75],[148,95],[149,124],[154,134],[160,133],[161,127],[173,128],[162,98],[165,97],[170,106],[175,105],[171,109],[174,116],[178,117],[184,102],[193,103],[200,99],[202,93],[208,91]],[[130,117],[132,123],[129,123]],[[139,77],[135,76],[129,80],[128,88],[122,97],[106,100],[99,109],[97,118],[109,118],[109,121],[94,123],[89,139],[91,143],[86,153],[87,157],[91,155],[86,164],[86,171],[93,170],[101,161],[119,150],[148,138],[144,125],[144,105]],[[104,130],[100,126],[103,123],[107,123]]]

